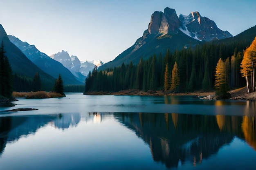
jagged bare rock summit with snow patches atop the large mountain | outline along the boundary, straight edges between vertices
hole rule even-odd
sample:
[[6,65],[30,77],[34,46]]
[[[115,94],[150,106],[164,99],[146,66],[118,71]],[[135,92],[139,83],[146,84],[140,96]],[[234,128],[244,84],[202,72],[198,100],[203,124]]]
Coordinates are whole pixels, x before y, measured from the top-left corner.
[[143,37],[150,34],[180,33],[196,40],[212,41],[232,37],[228,31],[220,30],[214,21],[207,17],[202,17],[198,11],[191,12],[189,15],[177,16],[175,9],[166,7],[164,12],[155,11],[151,15],[148,29]]

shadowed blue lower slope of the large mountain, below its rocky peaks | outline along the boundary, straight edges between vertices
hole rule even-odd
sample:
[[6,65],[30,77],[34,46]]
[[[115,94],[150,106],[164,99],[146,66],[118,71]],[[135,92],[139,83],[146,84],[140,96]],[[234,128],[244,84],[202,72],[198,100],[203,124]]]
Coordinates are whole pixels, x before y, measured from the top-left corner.
[[178,32],[180,32],[180,34],[159,33],[157,35],[148,35],[146,39],[141,37],[130,48],[118,55],[114,60],[99,67],[99,69],[104,70],[106,68],[120,66],[123,62],[124,64],[129,64],[130,61],[132,61],[133,64],[138,64],[141,57],[143,60],[147,60],[154,54],[159,55],[159,53],[162,53],[162,56],[164,56],[168,48],[173,52],[176,49],[180,50],[184,48],[184,46],[189,47],[193,44],[202,43],[184,35],[181,31]]

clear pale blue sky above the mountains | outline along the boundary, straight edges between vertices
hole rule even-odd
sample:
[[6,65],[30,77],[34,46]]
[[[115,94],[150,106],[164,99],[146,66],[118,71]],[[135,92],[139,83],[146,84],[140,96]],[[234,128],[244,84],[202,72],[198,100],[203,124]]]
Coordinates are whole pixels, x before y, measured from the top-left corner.
[[81,61],[109,62],[166,7],[178,16],[198,11],[232,35],[256,25],[256,0],[0,0],[0,24],[47,55],[64,50]]

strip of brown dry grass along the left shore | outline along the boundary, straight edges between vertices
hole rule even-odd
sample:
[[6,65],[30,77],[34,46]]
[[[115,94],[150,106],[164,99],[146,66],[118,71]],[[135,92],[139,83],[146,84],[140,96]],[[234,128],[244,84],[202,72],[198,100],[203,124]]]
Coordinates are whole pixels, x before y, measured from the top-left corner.
[[36,91],[36,92],[13,92],[12,96],[25,97],[27,99],[44,99],[44,98],[53,98],[53,97],[65,97],[59,93],[54,92],[45,92],[45,91]]

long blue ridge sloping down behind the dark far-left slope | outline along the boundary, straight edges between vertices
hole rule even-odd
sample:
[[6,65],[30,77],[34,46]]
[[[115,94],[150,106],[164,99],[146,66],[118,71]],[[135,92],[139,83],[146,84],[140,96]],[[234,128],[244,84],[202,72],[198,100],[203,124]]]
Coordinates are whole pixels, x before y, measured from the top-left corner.
[[24,53],[31,62],[40,69],[54,78],[58,78],[61,74],[63,84],[84,84],[74,77],[74,75],[61,63],[53,60],[45,53],[41,53],[36,46],[30,45],[27,42],[22,42],[13,35],[8,35],[9,40],[15,44]]

